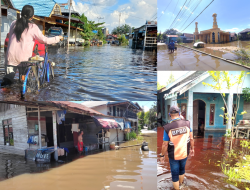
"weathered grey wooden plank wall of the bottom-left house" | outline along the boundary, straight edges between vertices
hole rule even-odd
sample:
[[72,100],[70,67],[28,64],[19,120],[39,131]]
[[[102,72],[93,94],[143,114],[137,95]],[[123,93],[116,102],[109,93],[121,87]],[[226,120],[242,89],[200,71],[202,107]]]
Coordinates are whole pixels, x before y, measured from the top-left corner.
[[28,148],[28,129],[25,106],[0,103],[0,145],[4,145],[2,120],[12,119],[14,147]]

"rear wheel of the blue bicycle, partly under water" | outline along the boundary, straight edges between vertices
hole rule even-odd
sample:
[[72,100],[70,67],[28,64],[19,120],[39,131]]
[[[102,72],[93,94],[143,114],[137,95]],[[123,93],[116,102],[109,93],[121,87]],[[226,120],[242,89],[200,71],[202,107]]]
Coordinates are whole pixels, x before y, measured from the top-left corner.
[[39,85],[36,76],[37,73],[34,73],[32,67],[29,67],[23,83],[23,94],[26,92],[36,92],[38,90]]

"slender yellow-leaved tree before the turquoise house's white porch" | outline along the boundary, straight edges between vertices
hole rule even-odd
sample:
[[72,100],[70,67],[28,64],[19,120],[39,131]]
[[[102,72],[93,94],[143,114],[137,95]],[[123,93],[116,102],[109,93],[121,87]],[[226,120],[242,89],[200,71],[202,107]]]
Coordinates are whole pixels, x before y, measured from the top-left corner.
[[[209,75],[212,77],[212,80],[215,84],[209,84],[209,83],[205,83],[202,82],[202,84],[204,86],[209,86],[211,88],[213,88],[214,90],[218,91],[221,94],[221,97],[223,99],[223,102],[225,104],[225,107],[227,110],[228,109],[228,104],[226,101],[226,94],[223,92],[224,88],[223,86],[226,86],[226,90],[228,90],[229,94],[228,96],[230,96],[231,101],[233,101],[233,97],[231,97],[232,94],[232,87],[233,86],[237,86],[237,94],[236,94],[236,107],[234,109],[234,112],[231,114],[224,113],[224,115],[220,115],[220,117],[223,117],[227,120],[227,123],[232,123],[232,126],[234,126],[235,123],[235,118],[237,115],[243,115],[246,113],[246,111],[241,112],[240,114],[238,114],[238,110],[239,110],[239,104],[240,104],[240,90],[242,89],[242,84],[244,83],[244,80],[246,78],[246,76],[248,74],[250,74],[250,72],[246,72],[246,71],[241,71],[240,75],[235,76],[235,81],[232,81],[233,77],[229,75],[228,71],[208,71]],[[225,107],[222,107],[221,109],[223,111],[225,111]],[[227,134],[231,134],[233,137],[233,133],[231,132],[231,129],[227,129]],[[227,135],[226,134],[226,135]]]

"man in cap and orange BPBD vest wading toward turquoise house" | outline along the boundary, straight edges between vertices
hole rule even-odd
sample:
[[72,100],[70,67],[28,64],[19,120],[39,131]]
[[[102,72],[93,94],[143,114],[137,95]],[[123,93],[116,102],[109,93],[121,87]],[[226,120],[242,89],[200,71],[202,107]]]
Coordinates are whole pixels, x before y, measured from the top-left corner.
[[190,122],[181,119],[180,109],[177,106],[170,108],[170,123],[163,126],[164,135],[160,161],[164,163],[168,152],[173,186],[176,190],[184,181],[185,165],[190,153],[194,156],[194,139]]

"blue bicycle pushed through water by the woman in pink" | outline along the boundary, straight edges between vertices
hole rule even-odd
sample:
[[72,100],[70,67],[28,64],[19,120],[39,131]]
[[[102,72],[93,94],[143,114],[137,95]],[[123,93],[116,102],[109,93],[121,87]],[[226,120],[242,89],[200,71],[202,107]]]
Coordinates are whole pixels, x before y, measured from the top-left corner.
[[21,62],[17,66],[19,70],[19,81],[22,82],[22,97],[27,92],[32,93],[39,91],[46,82],[50,82],[50,80],[54,78],[53,67],[55,63],[48,59],[48,46],[45,45],[44,58],[40,57],[37,47],[34,48],[35,57],[31,57],[29,61]]

